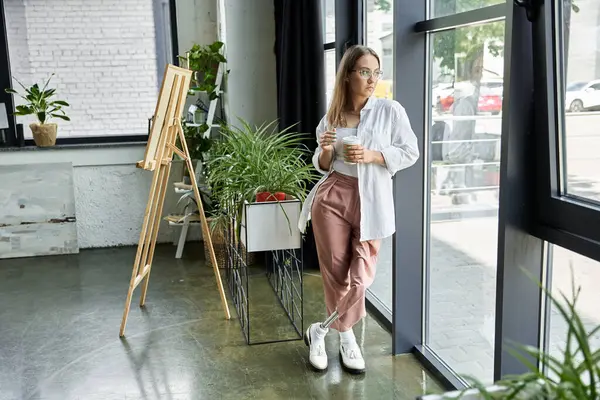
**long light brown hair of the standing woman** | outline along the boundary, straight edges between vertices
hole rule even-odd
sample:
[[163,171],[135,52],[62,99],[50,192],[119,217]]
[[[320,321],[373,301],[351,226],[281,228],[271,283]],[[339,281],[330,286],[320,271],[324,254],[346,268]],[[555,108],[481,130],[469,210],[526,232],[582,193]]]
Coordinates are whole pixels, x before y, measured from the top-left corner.
[[379,56],[370,47],[367,46],[352,46],[346,50],[340,66],[338,68],[337,75],[335,77],[335,86],[333,87],[333,97],[331,99],[331,105],[327,112],[327,122],[330,127],[345,127],[346,118],[344,118],[344,109],[348,105],[349,101],[349,88],[348,88],[348,77],[352,73],[354,66],[359,58],[365,55],[372,55],[377,59],[377,63],[381,66]]

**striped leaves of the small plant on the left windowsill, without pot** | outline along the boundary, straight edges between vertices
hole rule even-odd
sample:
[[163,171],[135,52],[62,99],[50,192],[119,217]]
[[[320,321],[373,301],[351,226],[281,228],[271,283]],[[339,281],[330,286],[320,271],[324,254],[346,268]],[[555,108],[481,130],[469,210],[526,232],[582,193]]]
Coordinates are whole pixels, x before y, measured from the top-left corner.
[[25,87],[25,85],[15,78],[15,81],[23,88],[25,93],[20,94],[12,88],[7,88],[5,91],[6,93],[20,96],[26,103],[18,105],[14,115],[35,115],[40,124],[45,124],[51,117],[70,121],[70,118],[63,110],[63,107],[69,107],[69,103],[63,100],[52,100],[52,97],[56,94],[56,89],[48,89],[48,84],[53,76],[54,74],[50,75],[46,84],[41,89],[37,83],[29,88]]

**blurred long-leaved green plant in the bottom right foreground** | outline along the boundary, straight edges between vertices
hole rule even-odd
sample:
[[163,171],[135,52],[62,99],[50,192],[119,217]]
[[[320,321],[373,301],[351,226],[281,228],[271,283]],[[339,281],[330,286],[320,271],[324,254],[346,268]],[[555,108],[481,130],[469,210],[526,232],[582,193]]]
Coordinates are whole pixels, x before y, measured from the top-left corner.
[[507,376],[492,386],[485,386],[477,379],[465,376],[469,382],[467,389],[422,396],[420,399],[600,399],[600,349],[592,350],[590,343],[600,332],[600,325],[587,330],[576,311],[581,288],[576,289],[573,283],[573,295],[569,299],[562,293],[560,296],[553,295],[540,283],[538,286],[567,323],[566,346],[560,357],[536,347],[514,345],[510,352],[527,367],[528,372]]

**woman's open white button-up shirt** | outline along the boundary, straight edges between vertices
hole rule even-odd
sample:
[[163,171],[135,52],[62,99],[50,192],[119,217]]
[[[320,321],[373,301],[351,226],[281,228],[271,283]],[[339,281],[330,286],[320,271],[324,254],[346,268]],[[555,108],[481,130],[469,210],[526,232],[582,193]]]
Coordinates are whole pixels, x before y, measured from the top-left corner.
[[[326,130],[327,116],[317,126],[317,142]],[[392,177],[396,172],[412,166],[419,158],[417,138],[404,107],[395,100],[376,97],[370,97],[360,112],[357,136],[365,149],[380,151],[385,159],[385,166],[358,164],[360,240],[383,239],[396,231]],[[319,166],[321,152],[319,145],[312,162],[324,176],[303,204],[298,221],[298,228],[303,233],[311,218],[317,190],[331,173],[331,170],[324,171]]]

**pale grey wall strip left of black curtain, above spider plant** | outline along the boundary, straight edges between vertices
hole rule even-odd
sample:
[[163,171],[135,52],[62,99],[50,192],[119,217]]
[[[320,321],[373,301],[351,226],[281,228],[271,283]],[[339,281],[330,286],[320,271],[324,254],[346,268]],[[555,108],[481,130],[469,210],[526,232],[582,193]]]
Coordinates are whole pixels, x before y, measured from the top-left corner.
[[227,45],[226,101],[230,123],[277,119],[275,10],[273,0],[224,0]]

